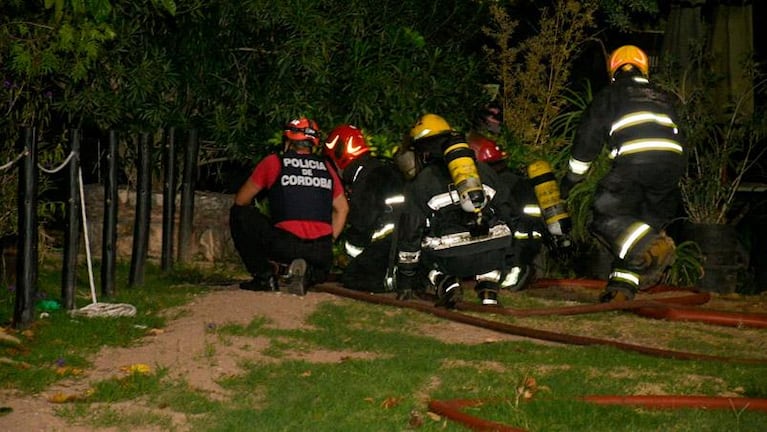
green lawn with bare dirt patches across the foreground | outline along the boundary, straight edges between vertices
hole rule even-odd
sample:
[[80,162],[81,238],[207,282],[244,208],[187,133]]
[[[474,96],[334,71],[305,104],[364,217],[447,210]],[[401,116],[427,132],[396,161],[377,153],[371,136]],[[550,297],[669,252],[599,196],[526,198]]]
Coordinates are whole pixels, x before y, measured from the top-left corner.
[[[13,398],[44,400],[42,406],[50,407],[61,429],[37,430],[467,430],[428,409],[430,401],[455,399],[484,401],[463,412],[527,431],[767,429],[764,411],[650,409],[580,399],[767,398],[767,360],[674,360],[607,346],[551,343],[327,293],[301,298],[222,285],[232,274],[226,268],[163,274],[150,265],[145,284],[128,288],[127,268],[121,266],[116,298],[99,300],[132,304],[136,316],[83,318],[51,311],[28,329],[5,327],[18,343],[0,345],[0,405],[6,408],[0,412],[0,430],[15,430],[11,419],[19,409]],[[55,269],[43,266],[40,291],[56,298],[59,280]],[[583,304],[590,295],[530,290],[504,292],[501,300],[507,307],[532,309]],[[713,306],[753,309],[764,305],[763,297],[716,299]],[[78,306],[89,298],[88,288],[82,288]],[[472,296],[466,300],[474,301]],[[218,313],[201,313],[212,308]],[[3,290],[5,325],[12,311],[12,293]],[[620,311],[531,317],[466,313],[658,349],[767,359],[767,329],[654,320]],[[187,328],[190,334],[182,338]],[[155,359],[172,352],[175,360],[146,364],[142,356],[152,354],[146,351]],[[104,372],[108,352],[122,353],[111,360],[122,363]],[[200,381],[192,373],[212,378]]]

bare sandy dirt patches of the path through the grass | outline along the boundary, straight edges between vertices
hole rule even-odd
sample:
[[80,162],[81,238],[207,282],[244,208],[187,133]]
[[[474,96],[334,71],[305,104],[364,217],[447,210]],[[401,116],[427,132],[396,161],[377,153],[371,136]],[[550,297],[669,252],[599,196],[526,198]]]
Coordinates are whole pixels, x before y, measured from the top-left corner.
[[[5,432],[85,432],[92,427],[71,426],[55,415],[62,405],[51,400],[84,394],[90,383],[124,374],[124,368],[143,364],[151,368],[167,368],[173,378],[186,380],[190,386],[205,391],[212,398],[226,398],[226,392],[216,384],[221,377],[240,373],[238,364],[243,359],[273,362],[273,357],[264,356],[261,351],[268,347],[267,339],[248,338],[247,341],[232,341],[222,344],[212,331],[224,324],[247,324],[255,316],[264,316],[269,326],[280,329],[305,328],[306,317],[315,307],[325,301],[351,302],[354,300],[336,297],[326,293],[310,292],[304,297],[283,293],[251,292],[237,289],[236,285],[217,289],[200,295],[194,301],[175,310],[168,311],[166,328],[148,331],[142,344],[131,348],[104,348],[93,359],[93,368],[86,372],[84,379],[66,381],[33,397],[20,396],[11,391],[0,391],[0,407],[11,411],[0,416],[0,431]],[[224,313],[222,313],[224,312]],[[444,324],[427,326],[424,334],[459,343],[486,343],[508,340],[517,336],[497,333],[447,321]],[[233,342],[233,343],[232,343]],[[211,344],[214,348],[211,348]],[[364,352],[312,351],[296,352],[294,358],[310,362],[341,362],[348,358],[370,355]],[[0,365],[0,367],[7,367]],[[124,409],[136,409],[125,404]],[[114,406],[113,406],[114,407]],[[167,412],[163,412],[167,415]],[[184,419],[174,418],[177,428],[184,430]],[[98,431],[116,431],[114,428]],[[147,432],[157,429],[148,429]],[[133,432],[144,432],[133,429]]]

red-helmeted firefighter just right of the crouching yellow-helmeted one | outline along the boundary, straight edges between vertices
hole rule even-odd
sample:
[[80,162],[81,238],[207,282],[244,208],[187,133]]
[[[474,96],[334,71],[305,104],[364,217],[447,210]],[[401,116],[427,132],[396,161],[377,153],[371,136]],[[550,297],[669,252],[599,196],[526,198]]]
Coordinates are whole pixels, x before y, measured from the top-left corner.
[[468,138],[477,160],[490,165],[498,173],[499,179],[509,187],[511,211],[517,224],[501,288],[522,290],[535,278],[534,261],[548,233],[541,207],[529,179],[509,168],[506,152],[495,141],[478,133],[471,133]]

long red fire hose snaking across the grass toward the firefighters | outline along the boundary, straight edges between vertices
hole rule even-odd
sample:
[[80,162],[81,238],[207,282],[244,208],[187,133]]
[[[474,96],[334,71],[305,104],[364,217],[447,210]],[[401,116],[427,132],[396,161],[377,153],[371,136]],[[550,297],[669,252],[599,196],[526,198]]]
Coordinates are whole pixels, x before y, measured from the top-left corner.
[[[585,280],[542,280],[540,286],[577,286],[587,288],[602,288],[604,282]],[[664,289],[664,287],[660,287]],[[670,288],[669,288],[670,289]],[[731,358],[711,356],[705,354],[696,354],[680,352],[673,350],[663,350],[652,347],[646,347],[635,344],[627,344],[612,340],[584,337],[578,335],[569,335],[555,333],[546,330],[515,326],[506,323],[500,323],[483,318],[466,315],[461,312],[452,311],[433,306],[430,303],[422,301],[397,300],[380,294],[369,294],[361,291],[349,290],[337,284],[322,284],[315,287],[316,291],[355,300],[366,301],[370,303],[386,304],[402,308],[414,309],[432,315],[450,319],[477,327],[495,330],[502,333],[525,336],[534,339],[541,339],[553,342],[569,343],[574,345],[605,345],[612,346],[625,351],[633,351],[646,355],[657,357],[672,358],[679,360],[713,360],[730,363],[743,364],[767,364],[767,359],[760,358]],[[700,305],[706,303],[710,298],[709,294],[697,293],[684,297],[663,298],[657,300],[633,300],[621,303],[608,303],[587,306],[574,306],[565,308],[548,308],[539,310],[514,310],[499,307],[487,307],[479,305],[468,305],[459,303],[457,309],[473,310],[479,312],[490,312],[495,314],[514,315],[514,316],[535,316],[535,315],[566,315],[576,313],[593,313],[609,310],[629,310],[639,315],[650,316],[652,318],[681,319],[681,320],[700,320],[719,325],[750,325],[754,327],[765,327],[767,319],[761,315],[748,314],[726,314],[724,312],[702,312],[690,308],[678,308],[671,305]],[[591,395],[582,396],[578,399],[601,405],[639,405],[645,408],[701,408],[701,409],[748,409],[767,411],[767,399],[758,398],[732,398],[732,397],[708,397],[708,396],[681,396],[681,395]],[[461,408],[469,406],[478,406],[486,403],[481,400],[432,400],[429,402],[429,410],[457,421],[474,431],[502,431],[502,432],[526,432],[524,429],[514,428],[501,423],[481,419],[464,413]]]

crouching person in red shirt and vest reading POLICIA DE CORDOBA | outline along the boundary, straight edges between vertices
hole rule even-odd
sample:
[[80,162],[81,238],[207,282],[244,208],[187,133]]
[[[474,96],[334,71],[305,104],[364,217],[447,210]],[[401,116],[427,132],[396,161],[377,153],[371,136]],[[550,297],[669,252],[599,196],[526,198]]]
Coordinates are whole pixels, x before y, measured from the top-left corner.
[[[282,142],[282,154],[261,160],[235,194],[229,225],[234,246],[253,276],[240,288],[277,291],[283,276],[287,292],[304,295],[327,277],[333,241],[341,234],[349,206],[335,170],[313,154],[320,144],[314,120],[290,121]],[[253,205],[262,192],[270,217]]]

